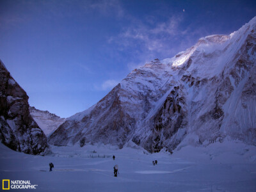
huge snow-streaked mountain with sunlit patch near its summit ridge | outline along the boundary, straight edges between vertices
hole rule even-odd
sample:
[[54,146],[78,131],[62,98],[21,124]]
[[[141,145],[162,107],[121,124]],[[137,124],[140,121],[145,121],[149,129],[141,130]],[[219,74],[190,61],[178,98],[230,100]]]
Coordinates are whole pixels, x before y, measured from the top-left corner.
[[223,138],[256,145],[256,17],[133,70],[51,134],[53,145],[133,141],[150,152]]

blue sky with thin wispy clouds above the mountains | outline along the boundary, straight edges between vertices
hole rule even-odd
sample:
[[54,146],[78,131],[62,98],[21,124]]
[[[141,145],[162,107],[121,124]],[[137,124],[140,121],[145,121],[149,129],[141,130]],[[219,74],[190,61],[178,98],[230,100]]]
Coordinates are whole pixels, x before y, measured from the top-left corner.
[[0,0],[0,59],[29,104],[61,117],[89,108],[134,68],[207,35],[230,34],[256,1]]

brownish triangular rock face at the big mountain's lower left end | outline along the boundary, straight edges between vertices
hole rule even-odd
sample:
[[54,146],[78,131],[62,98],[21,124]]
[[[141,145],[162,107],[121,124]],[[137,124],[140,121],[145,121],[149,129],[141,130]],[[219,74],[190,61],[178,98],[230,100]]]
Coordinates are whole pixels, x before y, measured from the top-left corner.
[[[127,141],[125,136],[131,131],[135,120],[122,110],[118,92],[120,92],[120,85],[116,86],[96,106],[93,106],[90,113],[79,114],[81,118],[78,121],[72,117],[69,118],[58,128],[58,131],[62,132],[65,137],[63,138],[62,134],[57,134],[55,131],[50,136],[50,141],[55,145],[67,145],[68,143],[74,145],[79,141],[83,146],[88,141],[94,143],[102,140],[103,143],[124,145]],[[109,121],[109,118],[112,120]],[[93,127],[93,130],[90,127]]]

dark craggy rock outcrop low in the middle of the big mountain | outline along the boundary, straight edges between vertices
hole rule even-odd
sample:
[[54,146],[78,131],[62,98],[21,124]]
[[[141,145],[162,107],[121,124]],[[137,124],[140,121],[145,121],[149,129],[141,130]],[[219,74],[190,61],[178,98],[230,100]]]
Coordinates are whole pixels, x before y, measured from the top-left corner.
[[[159,152],[163,147],[175,148],[185,136],[185,127],[188,125],[188,109],[186,106],[186,93],[184,86],[174,86],[173,90],[164,100],[163,106],[154,117],[154,125],[151,136],[146,140],[150,152]],[[178,140],[173,136],[178,130],[184,130]],[[152,143],[153,141],[153,143]]]

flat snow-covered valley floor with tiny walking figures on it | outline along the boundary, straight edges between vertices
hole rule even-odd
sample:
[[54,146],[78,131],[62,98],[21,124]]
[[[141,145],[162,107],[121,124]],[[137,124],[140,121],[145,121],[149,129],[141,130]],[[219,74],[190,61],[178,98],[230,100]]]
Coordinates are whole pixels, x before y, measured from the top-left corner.
[[[238,141],[187,146],[172,155],[164,150],[148,154],[131,145],[121,150],[51,146],[48,156],[15,152],[3,144],[0,150],[1,179],[38,185],[21,191],[256,191],[256,147]],[[118,177],[113,177],[115,164]]]

